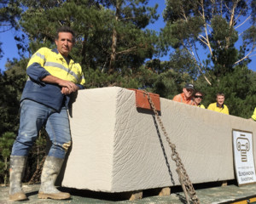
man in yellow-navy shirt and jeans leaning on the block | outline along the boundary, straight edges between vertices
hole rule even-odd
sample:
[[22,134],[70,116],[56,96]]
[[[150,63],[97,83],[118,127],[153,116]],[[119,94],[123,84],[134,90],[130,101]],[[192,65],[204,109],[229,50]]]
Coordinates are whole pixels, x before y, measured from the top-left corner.
[[44,125],[52,145],[44,161],[38,198],[70,198],[69,193],[55,188],[55,179],[71,145],[67,115],[69,97],[84,88],[85,82],[81,66],[69,55],[74,39],[70,28],[61,27],[55,37],[57,48],[40,48],[27,65],[28,79],[20,99],[20,129],[10,156],[11,201],[27,199],[21,189],[21,177],[28,152]]

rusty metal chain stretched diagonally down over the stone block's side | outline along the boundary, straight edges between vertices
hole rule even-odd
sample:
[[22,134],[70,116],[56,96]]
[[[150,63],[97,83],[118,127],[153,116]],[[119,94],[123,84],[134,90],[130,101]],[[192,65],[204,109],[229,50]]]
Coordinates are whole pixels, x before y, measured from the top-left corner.
[[154,107],[154,103],[153,103],[152,99],[150,98],[150,95],[145,90],[144,90],[144,93],[148,96],[149,104],[151,105],[151,107],[154,111],[154,115],[156,116],[156,118],[160,124],[160,127],[166,137],[166,141],[168,142],[169,146],[172,149],[172,155],[171,155],[172,160],[175,161],[175,163],[176,163],[176,167],[177,167],[176,172],[178,175],[178,180],[179,180],[180,184],[182,185],[184,195],[186,197],[187,202],[189,203],[189,197],[190,197],[190,199],[193,201],[193,203],[200,204],[199,198],[196,195],[193,184],[191,183],[191,181],[189,179],[189,175],[187,174],[186,169],[183,166],[183,162],[181,161],[181,158],[179,157],[179,155],[177,153],[176,145],[172,144],[171,139],[168,137],[168,134],[166,133],[166,128],[164,127],[163,122],[161,121],[160,116]]

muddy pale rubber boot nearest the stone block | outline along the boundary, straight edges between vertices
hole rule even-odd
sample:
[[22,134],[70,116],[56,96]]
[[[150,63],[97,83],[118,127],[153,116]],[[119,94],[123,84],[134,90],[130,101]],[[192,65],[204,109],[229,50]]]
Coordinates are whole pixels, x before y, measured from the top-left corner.
[[64,200],[70,198],[69,193],[63,193],[55,188],[55,180],[61,171],[64,159],[55,156],[47,156],[44,161],[44,167],[41,175],[41,186],[38,198],[51,198],[55,200]]

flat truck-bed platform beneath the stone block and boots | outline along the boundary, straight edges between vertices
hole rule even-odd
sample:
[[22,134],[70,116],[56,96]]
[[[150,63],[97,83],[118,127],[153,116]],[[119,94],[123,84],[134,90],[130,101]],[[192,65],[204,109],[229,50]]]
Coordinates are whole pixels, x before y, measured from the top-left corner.
[[[204,184],[195,185],[196,193],[201,204],[247,204],[256,203],[256,184],[248,184],[238,187],[236,184],[228,184],[225,186],[215,186],[202,188]],[[211,185],[211,184],[210,184]],[[54,203],[54,204],[185,204],[186,199],[183,191],[179,188],[172,187],[171,195],[159,196],[154,195],[154,190],[143,191],[143,198],[135,201],[125,199],[122,193],[102,193],[91,190],[76,190],[69,188],[60,188],[62,191],[70,192],[72,197],[67,201],[53,201],[38,199],[39,184],[24,185],[24,191],[28,197],[28,201],[20,201],[19,203]],[[17,203],[9,201],[9,187],[0,187],[0,204]]]

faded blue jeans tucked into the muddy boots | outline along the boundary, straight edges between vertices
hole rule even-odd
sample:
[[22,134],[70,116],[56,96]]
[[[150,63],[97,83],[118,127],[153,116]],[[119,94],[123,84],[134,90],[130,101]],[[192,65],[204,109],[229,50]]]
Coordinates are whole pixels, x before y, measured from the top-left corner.
[[64,159],[71,144],[67,108],[62,107],[57,112],[30,99],[24,99],[20,104],[20,128],[12,156],[27,156],[44,125],[52,142],[48,156]]

